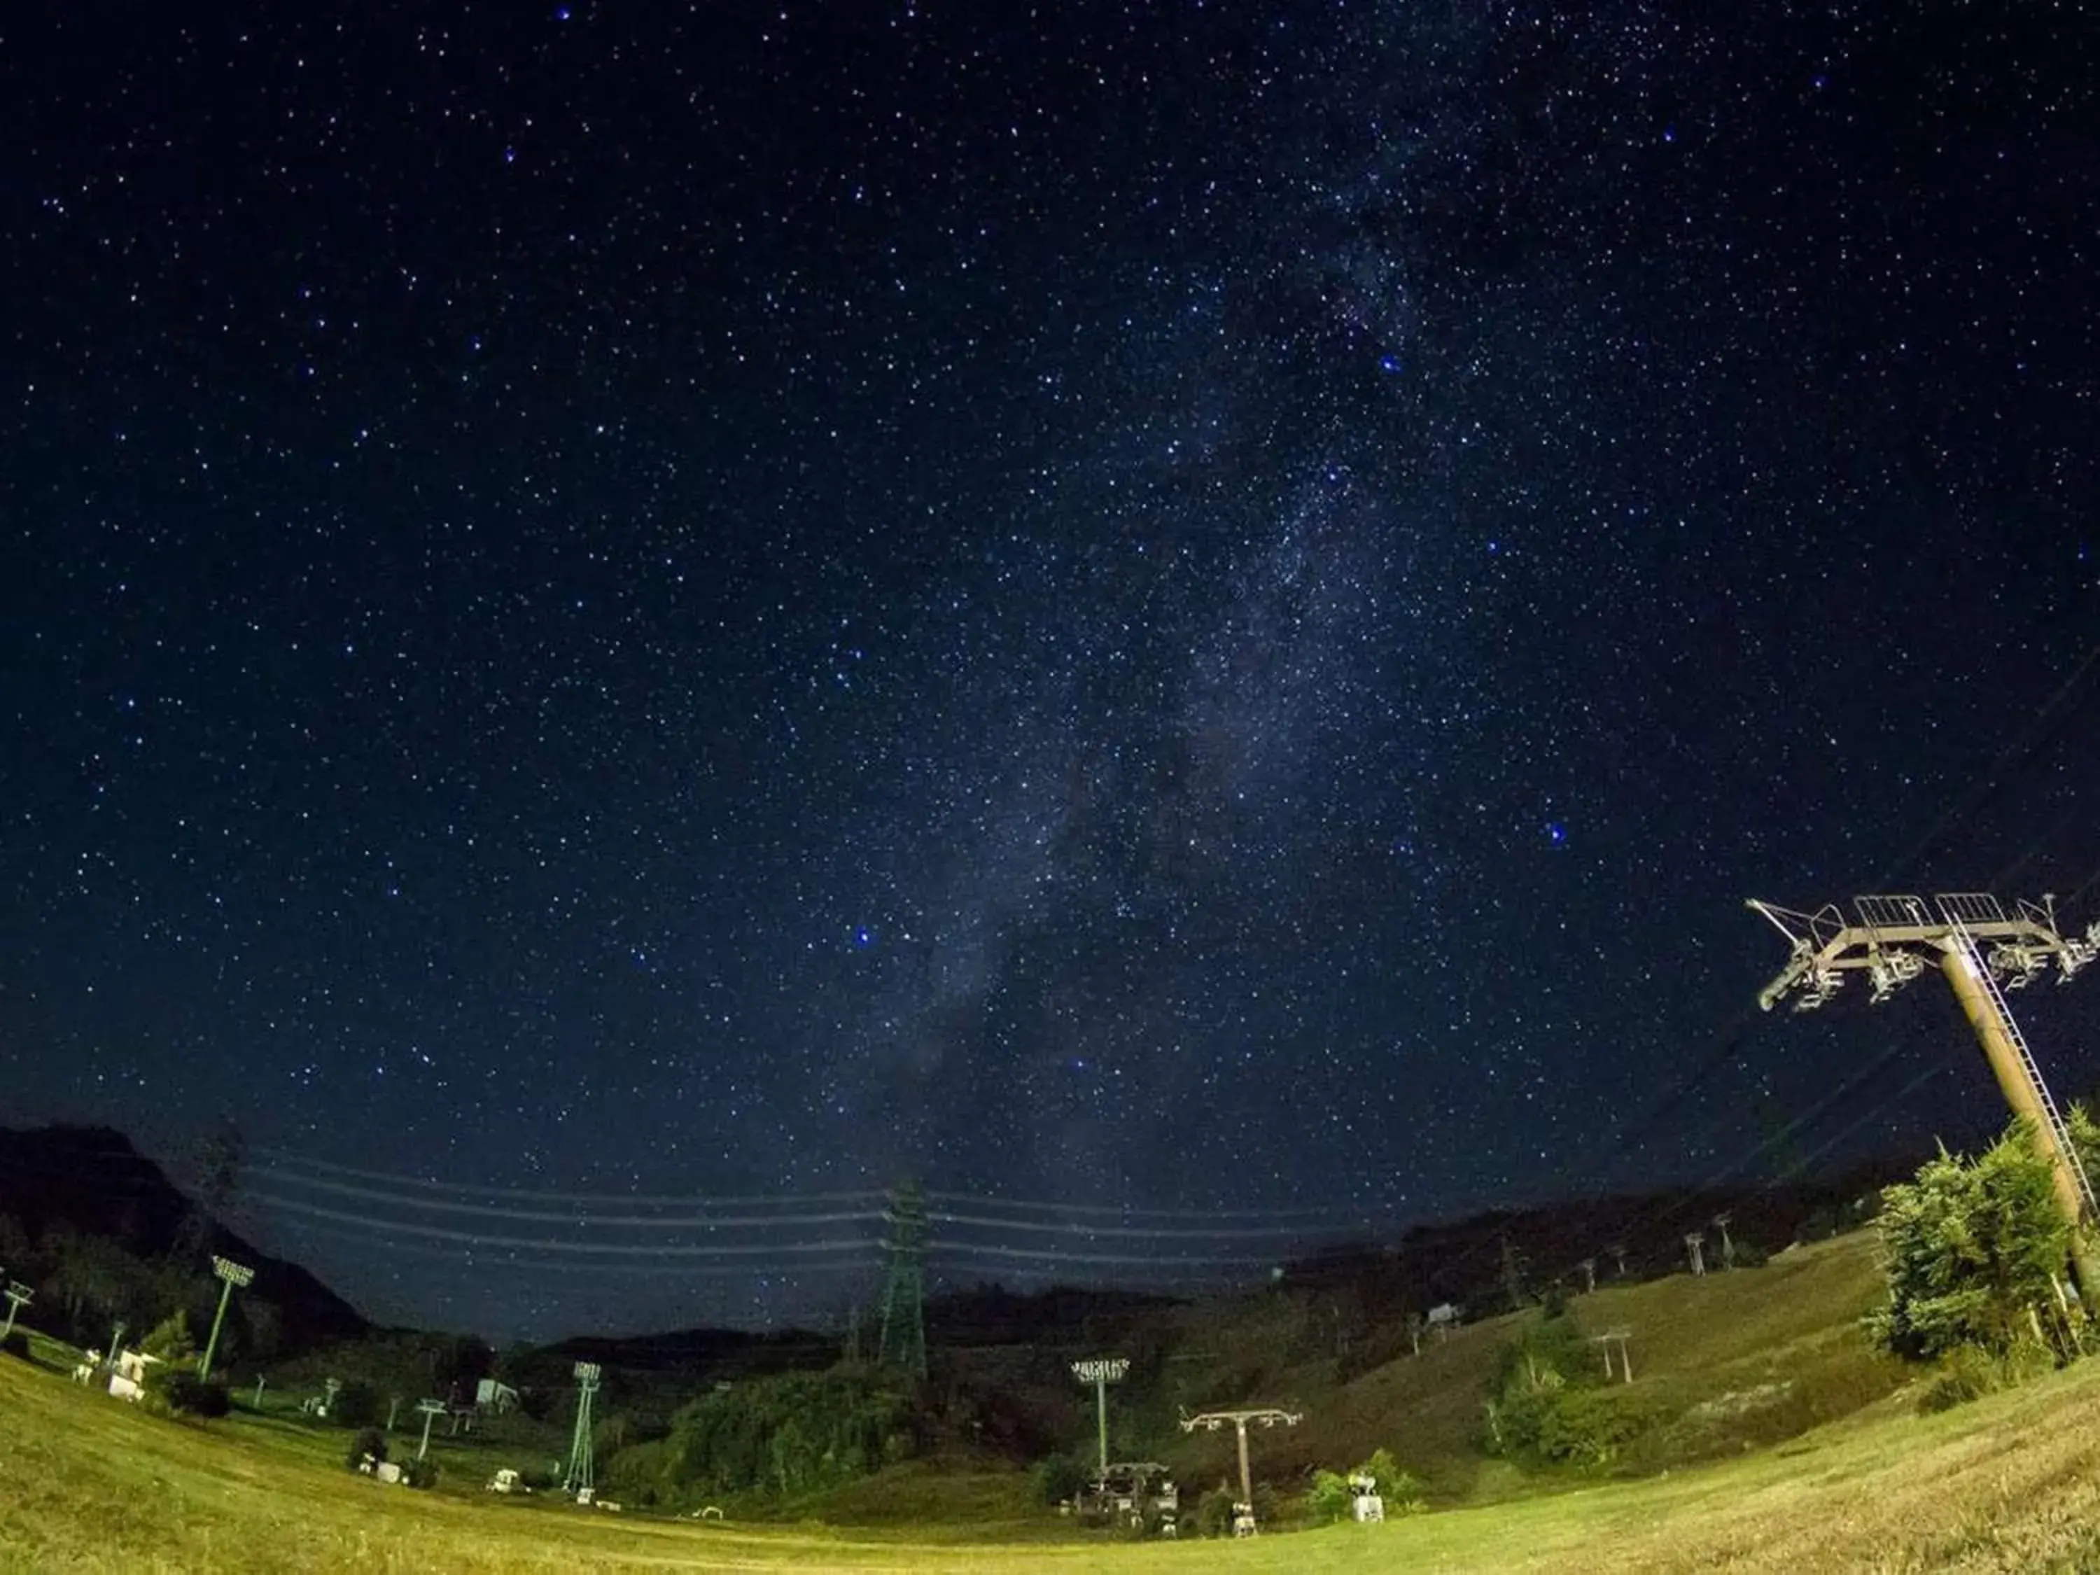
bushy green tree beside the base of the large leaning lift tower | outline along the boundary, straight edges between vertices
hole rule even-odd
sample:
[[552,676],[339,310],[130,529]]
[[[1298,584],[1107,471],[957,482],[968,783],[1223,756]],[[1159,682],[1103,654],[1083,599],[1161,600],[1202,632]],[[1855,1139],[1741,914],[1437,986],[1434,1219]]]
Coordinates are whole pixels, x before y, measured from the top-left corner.
[[2033,1310],[2054,1302],[2071,1226],[2024,1121],[1976,1159],[1928,1159],[1882,1195],[1888,1306],[1869,1327],[1898,1357],[2033,1344]]

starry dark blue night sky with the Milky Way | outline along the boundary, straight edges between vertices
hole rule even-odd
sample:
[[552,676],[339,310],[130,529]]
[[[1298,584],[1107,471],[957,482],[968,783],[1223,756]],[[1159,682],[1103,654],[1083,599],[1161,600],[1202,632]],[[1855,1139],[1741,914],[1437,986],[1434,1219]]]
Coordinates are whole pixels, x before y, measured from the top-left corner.
[[10,8],[0,1119],[231,1113],[260,1241],[500,1334],[836,1310],[905,1174],[1065,1205],[949,1279],[1149,1283],[1972,1140],[1942,993],[1745,1021],[1741,903],[2100,914],[2096,82],[2045,4]]

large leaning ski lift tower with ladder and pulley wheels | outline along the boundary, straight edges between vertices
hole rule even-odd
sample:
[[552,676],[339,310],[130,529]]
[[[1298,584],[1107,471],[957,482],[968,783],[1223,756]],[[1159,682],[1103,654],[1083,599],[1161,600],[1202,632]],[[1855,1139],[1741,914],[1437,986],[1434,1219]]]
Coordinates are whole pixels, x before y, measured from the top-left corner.
[[2052,962],[2056,983],[2071,983],[2100,956],[2100,922],[2087,926],[2083,937],[2066,939],[2056,928],[2054,897],[2039,903],[2020,899],[2008,914],[1991,892],[1938,892],[1930,903],[1900,895],[1854,897],[1858,922],[1850,922],[1835,903],[1814,914],[1793,914],[1756,899],[1749,907],[1787,937],[1791,947],[1787,966],[1758,991],[1758,1006],[1766,1012],[1787,995],[1796,998],[1796,1012],[1812,1012],[1844,987],[1848,972],[1865,972],[1880,1004],[1928,966],[1938,966],[1991,1063],[2006,1105],[2026,1119],[2035,1149],[2050,1166],[2056,1203],[2071,1222],[2071,1266],[2077,1270],[2079,1292],[2087,1306],[2100,1306],[2100,1258],[2081,1228],[2100,1218],[2092,1180],[2079,1163],[2056,1098],[2041,1079],[2035,1052],[2006,1006],[2006,989],[2024,989]]

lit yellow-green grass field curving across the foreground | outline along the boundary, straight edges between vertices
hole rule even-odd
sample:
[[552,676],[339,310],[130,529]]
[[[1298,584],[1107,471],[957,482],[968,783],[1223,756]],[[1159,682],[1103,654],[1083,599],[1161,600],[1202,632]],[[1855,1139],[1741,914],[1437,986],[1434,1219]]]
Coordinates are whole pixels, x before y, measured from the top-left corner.
[[[699,1527],[498,1499],[472,1491],[464,1451],[454,1491],[412,1493],[342,1470],[340,1432],[160,1420],[19,1361],[0,1361],[0,1420],[6,1571],[2100,1569],[2100,1363],[1934,1418],[1871,1407],[1659,1478],[1180,1546],[1018,1544],[1046,1522],[1016,1522],[1021,1499],[995,1476],[974,1487],[974,1541],[956,1522],[932,1539],[907,1525]],[[890,1495],[909,1504],[909,1476]]]

